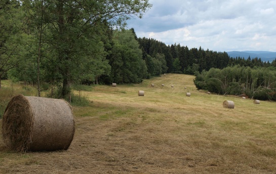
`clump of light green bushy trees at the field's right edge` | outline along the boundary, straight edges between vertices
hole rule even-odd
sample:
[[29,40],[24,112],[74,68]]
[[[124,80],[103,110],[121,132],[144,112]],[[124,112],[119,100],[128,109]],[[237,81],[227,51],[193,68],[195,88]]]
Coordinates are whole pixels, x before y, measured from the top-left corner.
[[196,74],[197,89],[217,94],[241,95],[258,100],[275,100],[276,72],[272,68],[233,66],[222,70],[211,68]]

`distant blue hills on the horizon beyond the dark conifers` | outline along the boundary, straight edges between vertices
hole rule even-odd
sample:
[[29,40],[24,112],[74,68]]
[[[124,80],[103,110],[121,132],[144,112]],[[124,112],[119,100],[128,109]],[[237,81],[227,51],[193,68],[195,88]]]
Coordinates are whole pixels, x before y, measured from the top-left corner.
[[232,58],[236,58],[236,57],[241,57],[241,58],[245,58],[248,59],[248,57],[250,56],[251,59],[253,58],[261,58],[262,61],[269,61],[270,63],[275,60],[276,58],[276,52],[266,52],[266,51],[242,51],[242,52],[238,52],[238,51],[233,51],[233,52],[227,52],[227,54],[232,57]]

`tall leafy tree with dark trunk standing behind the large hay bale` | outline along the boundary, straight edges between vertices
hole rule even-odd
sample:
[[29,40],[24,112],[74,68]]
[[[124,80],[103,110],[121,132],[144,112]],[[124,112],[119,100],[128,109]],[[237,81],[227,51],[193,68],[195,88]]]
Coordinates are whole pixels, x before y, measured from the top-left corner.
[[44,3],[51,4],[48,12],[54,16],[49,23],[48,37],[52,38],[49,45],[56,54],[53,63],[62,75],[62,98],[70,96],[70,83],[79,72],[77,63],[93,61],[97,51],[91,46],[96,46],[100,40],[98,33],[104,35],[108,26],[124,27],[130,17],[142,18],[151,7],[148,0],[45,0]]

